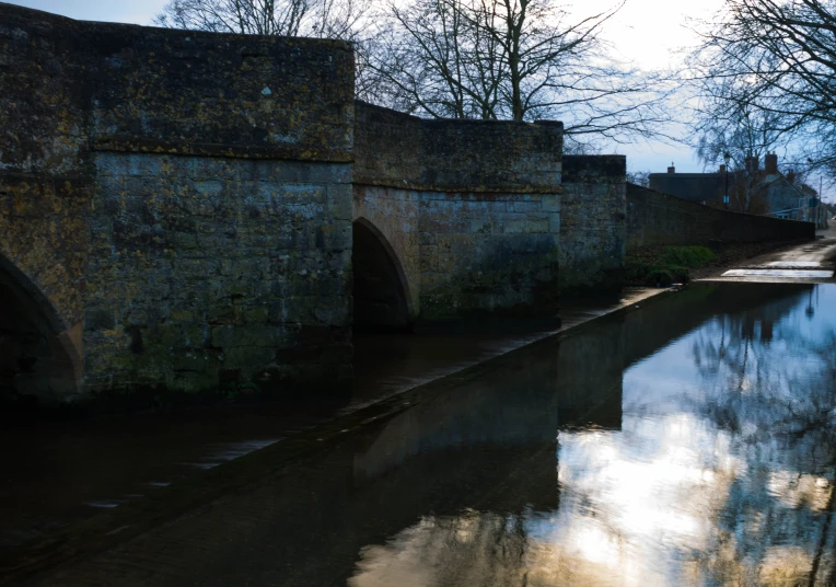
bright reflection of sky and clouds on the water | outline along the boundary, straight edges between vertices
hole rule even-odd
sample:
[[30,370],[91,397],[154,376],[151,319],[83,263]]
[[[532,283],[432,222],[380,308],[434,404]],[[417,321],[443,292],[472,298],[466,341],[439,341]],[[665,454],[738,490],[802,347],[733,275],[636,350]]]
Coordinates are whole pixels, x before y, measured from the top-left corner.
[[629,366],[619,430],[558,435],[555,511],[425,516],[350,584],[832,585],[836,286]]

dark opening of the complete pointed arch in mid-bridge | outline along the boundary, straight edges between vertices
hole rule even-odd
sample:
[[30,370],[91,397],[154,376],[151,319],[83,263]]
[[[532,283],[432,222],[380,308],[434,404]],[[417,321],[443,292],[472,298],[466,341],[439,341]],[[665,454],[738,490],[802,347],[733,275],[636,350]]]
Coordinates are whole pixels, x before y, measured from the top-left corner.
[[355,327],[408,329],[415,307],[397,253],[367,218],[355,219],[351,228]]

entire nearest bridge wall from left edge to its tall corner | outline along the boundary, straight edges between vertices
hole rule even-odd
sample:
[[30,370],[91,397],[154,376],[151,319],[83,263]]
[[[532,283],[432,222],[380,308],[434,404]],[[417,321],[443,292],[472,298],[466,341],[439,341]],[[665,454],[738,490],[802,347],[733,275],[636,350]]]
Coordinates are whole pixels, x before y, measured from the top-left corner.
[[0,4],[0,285],[77,391],[347,389],[347,44]]

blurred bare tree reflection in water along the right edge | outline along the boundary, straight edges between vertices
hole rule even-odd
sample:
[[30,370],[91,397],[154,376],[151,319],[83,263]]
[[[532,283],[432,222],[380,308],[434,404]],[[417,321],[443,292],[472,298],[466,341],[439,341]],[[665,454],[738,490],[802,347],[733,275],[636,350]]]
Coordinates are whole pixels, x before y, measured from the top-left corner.
[[[812,296],[804,301],[812,319]],[[811,337],[789,325],[783,319],[801,306],[788,302],[721,316],[693,348],[705,395],[690,401],[731,436],[746,469],[712,513],[716,543],[704,551],[711,554],[695,555],[704,576],[719,583],[746,583],[752,573],[760,584],[836,583],[825,554],[836,540],[836,333]]]

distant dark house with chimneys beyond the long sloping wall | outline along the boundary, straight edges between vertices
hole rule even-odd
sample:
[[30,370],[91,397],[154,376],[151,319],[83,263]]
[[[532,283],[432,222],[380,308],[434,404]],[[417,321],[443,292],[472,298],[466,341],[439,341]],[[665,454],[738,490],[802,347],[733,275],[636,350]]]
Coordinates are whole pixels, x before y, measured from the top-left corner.
[[667,173],[650,174],[650,188],[715,208],[806,220],[826,228],[829,212],[818,206],[816,191],[797,181],[792,171],[778,171],[777,154],[767,154],[764,163],[760,169],[758,159],[751,157],[746,169],[728,173],[725,165],[717,173],[676,173],[672,165]]

